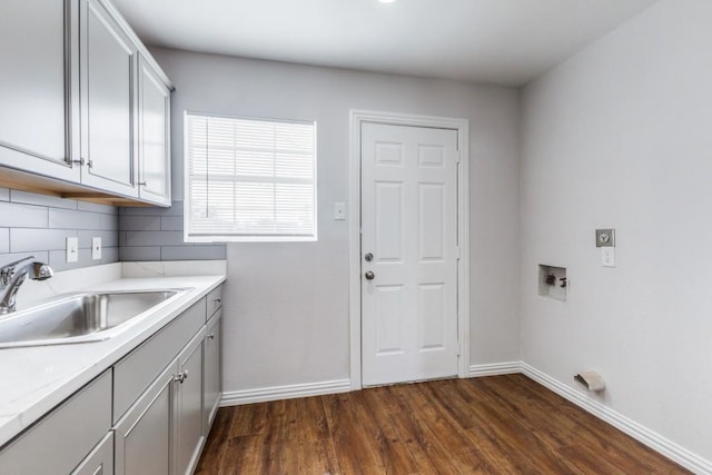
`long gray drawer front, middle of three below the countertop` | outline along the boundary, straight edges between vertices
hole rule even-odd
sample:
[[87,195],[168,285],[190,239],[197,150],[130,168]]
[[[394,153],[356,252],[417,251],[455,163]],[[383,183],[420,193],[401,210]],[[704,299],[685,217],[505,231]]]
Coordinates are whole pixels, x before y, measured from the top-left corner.
[[206,299],[201,298],[113,366],[115,423],[200,329],[205,318]]

